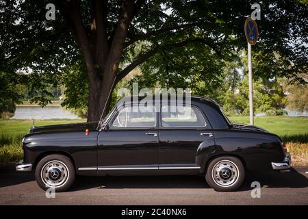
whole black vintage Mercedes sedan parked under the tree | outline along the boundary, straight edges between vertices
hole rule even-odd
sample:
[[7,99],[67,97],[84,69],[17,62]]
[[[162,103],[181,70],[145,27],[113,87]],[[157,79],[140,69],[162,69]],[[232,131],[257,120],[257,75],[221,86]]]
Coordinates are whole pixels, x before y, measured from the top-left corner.
[[181,110],[153,99],[153,112],[131,110],[140,101],[130,98],[99,123],[32,127],[16,170],[34,170],[38,185],[56,192],[75,175],[204,175],[214,190],[233,191],[248,170],[290,168],[279,136],[231,123],[211,99],[192,96]]

